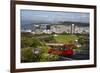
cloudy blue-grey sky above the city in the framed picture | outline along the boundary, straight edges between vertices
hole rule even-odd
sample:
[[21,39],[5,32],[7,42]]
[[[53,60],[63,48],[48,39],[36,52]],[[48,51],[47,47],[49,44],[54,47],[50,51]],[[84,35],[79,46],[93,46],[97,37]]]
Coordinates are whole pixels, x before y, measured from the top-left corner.
[[63,21],[89,22],[89,13],[21,10],[22,23],[57,23]]

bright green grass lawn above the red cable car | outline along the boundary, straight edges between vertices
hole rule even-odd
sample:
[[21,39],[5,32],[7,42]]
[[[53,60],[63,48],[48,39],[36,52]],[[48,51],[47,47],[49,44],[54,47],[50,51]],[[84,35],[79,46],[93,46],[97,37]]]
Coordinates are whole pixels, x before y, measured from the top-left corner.
[[54,39],[59,43],[73,43],[78,37],[76,35],[57,35]]

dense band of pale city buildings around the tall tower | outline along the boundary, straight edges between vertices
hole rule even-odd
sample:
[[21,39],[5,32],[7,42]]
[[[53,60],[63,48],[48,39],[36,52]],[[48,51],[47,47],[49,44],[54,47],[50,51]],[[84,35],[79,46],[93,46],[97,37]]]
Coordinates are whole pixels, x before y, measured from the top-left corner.
[[59,24],[59,25],[52,25],[51,26],[51,29],[50,29],[51,32],[55,32],[55,33],[63,33],[63,32],[66,32],[66,33],[89,33],[89,26],[79,26],[79,25],[75,25],[75,24],[71,24],[71,25],[62,25],[62,24]]

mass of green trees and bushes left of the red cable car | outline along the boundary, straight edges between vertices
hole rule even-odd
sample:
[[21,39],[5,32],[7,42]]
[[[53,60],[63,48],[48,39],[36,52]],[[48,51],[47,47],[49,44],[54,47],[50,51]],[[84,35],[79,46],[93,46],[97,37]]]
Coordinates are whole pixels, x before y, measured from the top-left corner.
[[[49,39],[52,37],[50,36]],[[23,37],[21,49],[21,62],[46,62],[50,60],[57,60],[58,55],[48,54],[49,46],[43,40],[39,38]],[[39,54],[35,54],[34,50],[40,50]]]

